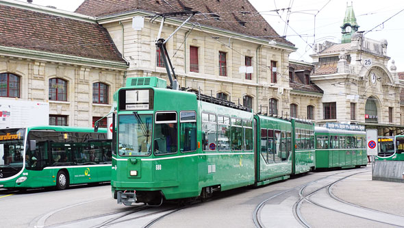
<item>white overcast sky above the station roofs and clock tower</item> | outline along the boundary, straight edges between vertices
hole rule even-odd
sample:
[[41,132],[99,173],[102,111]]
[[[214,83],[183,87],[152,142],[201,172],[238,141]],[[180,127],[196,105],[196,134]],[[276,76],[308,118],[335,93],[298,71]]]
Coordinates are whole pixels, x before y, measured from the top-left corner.
[[[21,0],[23,1],[23,0]],[[341,0],[249,0],[280,36],[293,42],[299,49],[290,55],[292,60],[312,62],[314,37],[316,42],[340,42],[346,1]],[[26,2],[26,1],[25,1]],[[53,5],[60,10],[74,11],[83,0],[34,0],[37,5]],[[354,0],[353,10],[359,31],[366,38],[388,40],[389,68],[395,60],[397,71],[404,71],[404,1]],[[349,1],[351,5],[351,1]],[[290,8],[288,10],[282,10]],[[279,11],[274,11],[279,10]],[[394,14],[400,12],[396,16]],[[390,18],[393,16],[392,18]],[[289,19],[286,26],[287,17]],[[315,19],[314,19],[315,18]],[[390,18],[390,20],[388,20]],[[388,20],[388,21],[386,21]],[[385,23],[383,23],[386,21]],[[382,25],[380,25],[383,23]],[[315,26],[314,26],[315,25]],[[380,25],[380,26],[377,26]],[[314,30],[315,27],[315,30]],[[376,27],[376,28],[375,28]],[[372,30],[372,31],[369,31]]]

